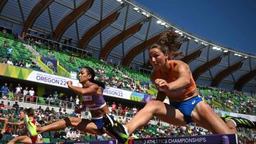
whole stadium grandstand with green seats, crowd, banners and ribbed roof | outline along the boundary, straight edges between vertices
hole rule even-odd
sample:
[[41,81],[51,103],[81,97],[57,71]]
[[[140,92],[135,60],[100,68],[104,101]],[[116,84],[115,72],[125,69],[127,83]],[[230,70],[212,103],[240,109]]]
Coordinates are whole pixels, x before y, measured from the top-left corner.
[[[78,72],[89,66],[107,86],[103,94],[111,113],[119,123],[128,123],[147,101],[156,99],[148,48],[164,31],[179,35],[181,55],[175,59],[189,65],[203,100],[219,116],[255,123],[256,55],[201,38],[133,0],[1,0],[0,118],[19,122],[21,110],[30,107],[41,126],[67,116],[90,119],[89,109],[75,113],[82,101],[67,87],[68,80],[79,86]],[[23,131],[8,125],[0,143]],[[154,118],[132,136],[208,134],[195,123],[174,126]],[[113,140],[74,128],[41,135],[44,143]],[[238,128],[238,143],[255,141],[255,128]]]

